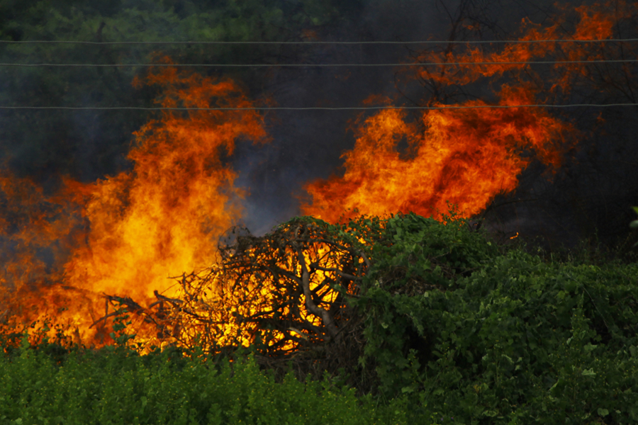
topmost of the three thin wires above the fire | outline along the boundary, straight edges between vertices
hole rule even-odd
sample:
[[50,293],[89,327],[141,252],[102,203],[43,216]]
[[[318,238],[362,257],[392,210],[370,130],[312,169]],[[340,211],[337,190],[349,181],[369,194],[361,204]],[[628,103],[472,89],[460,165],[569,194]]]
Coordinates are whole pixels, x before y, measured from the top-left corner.
[[406,44],[496,44],[534,42],[634,42],[638,38],[605,40],[418,40],[418,41],[75,41],[75,40],[0,40],[0,44],[79,44],[79,45],[406,45]]

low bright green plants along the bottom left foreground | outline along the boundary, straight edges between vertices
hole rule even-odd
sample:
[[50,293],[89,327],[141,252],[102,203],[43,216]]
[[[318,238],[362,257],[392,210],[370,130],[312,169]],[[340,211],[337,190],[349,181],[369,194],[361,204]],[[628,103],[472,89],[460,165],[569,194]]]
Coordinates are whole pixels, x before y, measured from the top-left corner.
[[330,380],[276,383],[252,358],[215,367],[169,352],[75,351],[56,363],[23,346],[0,358],[2,424],[405,424]]

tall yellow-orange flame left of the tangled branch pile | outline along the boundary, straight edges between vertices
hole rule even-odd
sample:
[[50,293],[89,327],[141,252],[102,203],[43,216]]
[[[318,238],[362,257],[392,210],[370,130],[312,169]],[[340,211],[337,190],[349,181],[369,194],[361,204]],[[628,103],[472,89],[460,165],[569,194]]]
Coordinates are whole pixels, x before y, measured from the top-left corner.
[[[164,107],[252,105],[233,81],[172,68],[150,73],[147,84],[162,89],[157,103]],[[77,327],[84,342],[101,344],[108,334],[103,325],[113,312],[105,295],[128,297],[129,310],[135,310],[141,308],[137,303],[156,300],[154,290],[171,296],[169,276],[211,266],[217,238],[241,215],[242,191],[233,186],[237,174],[223,156],[233,152],[238,139],[263,141],[265,136],[254,111],[167,111],[135,132],[128,154],[131,171],[91,184],[67,180],[59,198],[82,205],[88,226],[76,238],[81,243],[73,246],[60,278],[51,283],[27,279],[37,293],[19,303],[38,313],[28,319],[55,307],[56,322]],[[38,217],[40,222],[50,239],[60,237],[48,229],[46,217]],[[21,237],[31,232],[43,233],[27,227]],[[26,256],[17,260],[24,268],[34,263]]]

